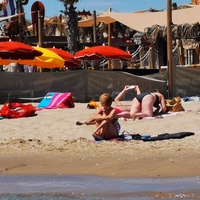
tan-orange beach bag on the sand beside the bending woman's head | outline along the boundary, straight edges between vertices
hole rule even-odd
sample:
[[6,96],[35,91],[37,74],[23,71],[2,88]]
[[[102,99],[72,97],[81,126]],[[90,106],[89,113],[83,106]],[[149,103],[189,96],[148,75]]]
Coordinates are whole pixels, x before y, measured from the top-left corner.
[[173,97],[171,100],[166,100],[166,107],[168,112],[184,111],[181,104],[181,98],[179,96]]

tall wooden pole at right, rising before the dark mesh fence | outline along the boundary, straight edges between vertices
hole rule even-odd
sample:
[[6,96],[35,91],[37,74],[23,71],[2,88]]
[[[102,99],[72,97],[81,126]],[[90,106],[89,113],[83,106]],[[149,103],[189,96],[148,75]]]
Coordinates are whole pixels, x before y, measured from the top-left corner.
[[167,0],[167,59],[168,59],[168,98],[174,95],[174,69],[172,63],[172,1]]

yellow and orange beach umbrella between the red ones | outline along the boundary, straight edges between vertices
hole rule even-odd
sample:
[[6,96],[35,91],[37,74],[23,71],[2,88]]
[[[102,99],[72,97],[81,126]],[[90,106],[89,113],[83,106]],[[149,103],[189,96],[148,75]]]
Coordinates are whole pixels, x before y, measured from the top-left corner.
[[40,68],[63,68],[65,60],[58,54],[42,47],[33,47],[35,50],[41,51],[41,56],[35,57],[32,60],[18,60],[19,64],[37,66]]

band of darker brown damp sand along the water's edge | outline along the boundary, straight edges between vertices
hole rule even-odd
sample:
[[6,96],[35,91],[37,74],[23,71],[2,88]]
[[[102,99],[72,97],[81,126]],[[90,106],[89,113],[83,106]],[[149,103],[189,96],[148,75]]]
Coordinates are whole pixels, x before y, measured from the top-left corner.
[[[160,141],[159,141],[160,142]],[[162,141],[163,142],[163,141]],[[133,149],[131,152],[123,148],[123,143],[135,141],[112,142],[113,152],[101,152],[103,144],[77,140],[69,149],[62,148],[49,152],[32,152],[23,150],[1,155],[0,173],[6,175],[93,175],[113,178],[173,178],[197,177],[200,175],[198,149],[166,149],[149,148]],[[116,143],[116,144],[115,144]],[[175,142],[176,143],[176,142]],[[167,143],[166,143],[167,145]],[[173,145],[173,144],[172,144]],[[89,152],[95,148],[94,152]],[[169,148],[172,148],[170,146]],[[119,151],[120,150],[120,151]],[[141,152],[143,151],[143,152]],[[97,153],[98,152],[98,153]],[[135,152],[135,153],[134,153]],[[189,164],[188,164],[189,163]]]

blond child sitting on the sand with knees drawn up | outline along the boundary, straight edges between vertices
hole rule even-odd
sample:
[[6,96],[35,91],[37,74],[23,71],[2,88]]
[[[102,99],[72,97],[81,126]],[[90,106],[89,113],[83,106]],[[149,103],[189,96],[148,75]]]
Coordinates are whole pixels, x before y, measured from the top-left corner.
[[77,122],[77,125],[95,124],[96,130],[92,136],[95,140],[110,140],[117,138],[119,134],[119,123],[117,120],[117,112],[111,106],[112,96],[109,93],[104,93],[99,98],[101,108],[89,120],[84,123]]

